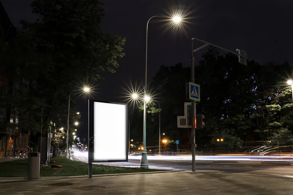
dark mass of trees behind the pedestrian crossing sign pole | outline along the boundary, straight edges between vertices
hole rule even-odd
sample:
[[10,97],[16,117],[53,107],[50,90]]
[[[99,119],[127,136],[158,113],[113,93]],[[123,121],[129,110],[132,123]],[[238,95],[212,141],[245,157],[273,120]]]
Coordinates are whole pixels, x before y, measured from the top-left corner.
[[[196,131],[198,149],[238,150],[244,142],[279,145],[292,139],[292,90],[286,84],[286,79],[291,78],[288,63],[260,65],[249,61],[244,66],[235,55],[219,56],[219,50],[212,47],[202,57],[195,67],[195,83],[201,85],[196,112],[205,116],[204,129]],[[177,116],[184,116],[184,102],[188,102],[185,83],[189,81],[190,68],[179,63],[162,65],[151,83],[161,104],[161,132],[170,139],[179,139],[187,150],[190,129],[177,128]],[[155,118],[147,121],[147,138],[152,139],[158,137],[158,114],[148,115],[147,118]],[[218,138],[224,141],[219,143]]]

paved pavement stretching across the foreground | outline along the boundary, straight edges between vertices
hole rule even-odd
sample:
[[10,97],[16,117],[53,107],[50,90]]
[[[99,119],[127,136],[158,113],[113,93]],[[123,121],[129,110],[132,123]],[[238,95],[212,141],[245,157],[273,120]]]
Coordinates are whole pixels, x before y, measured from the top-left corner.
[[292,178],[169,172],[0,184],[1,195],[292,195]]

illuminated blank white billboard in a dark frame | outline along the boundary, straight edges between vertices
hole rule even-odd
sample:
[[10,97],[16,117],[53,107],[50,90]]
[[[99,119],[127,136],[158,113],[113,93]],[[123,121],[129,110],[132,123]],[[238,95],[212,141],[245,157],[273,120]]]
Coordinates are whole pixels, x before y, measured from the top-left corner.
[[92,161],[127,161],[127,104],[93,101],[92,106]]

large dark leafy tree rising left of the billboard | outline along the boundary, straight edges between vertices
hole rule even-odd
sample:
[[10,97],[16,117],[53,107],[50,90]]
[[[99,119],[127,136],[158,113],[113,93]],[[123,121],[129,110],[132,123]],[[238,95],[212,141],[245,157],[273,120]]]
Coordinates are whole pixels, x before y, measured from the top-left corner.
[[34,0],[31,6],[41,20],[21,22],[25,33],[2,48],[1,66],[10,83],[28,81],[26,94],[18,98],[10,91],[7,97],[28,115],[20,126],[38,132],[40,125],[32,124],[40,124],[42,110],[47,129],[49,121],[67,117],[68,96],[80,83],[102,79],[102,71],[115,72],[125,39],[102,31],[98,0]]

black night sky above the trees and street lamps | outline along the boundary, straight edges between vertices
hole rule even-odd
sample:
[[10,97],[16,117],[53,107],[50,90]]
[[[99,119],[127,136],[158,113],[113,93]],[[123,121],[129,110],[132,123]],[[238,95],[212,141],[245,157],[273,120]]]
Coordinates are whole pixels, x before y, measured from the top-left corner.
[[[148,80],[160,65],[182,62],[190,66],[190,40],[203,39],[229,50],[236,48],[247,52],[250,60],[261,64],[268,61],[293,65],[293,1],[292,0],[177,0],[192,5],[194,11],[188,25],[188,35],[163,34],[162,24],[157,19],[149,23],[148,31]],[[36,20],[31,14],[31,0],[1,0],[10,20],[21,27],[19,20]],[[105,32],[126,38],[126,56],[119,60],[115,74],[103,74],[105,80],[98,86],[96,99],[122,101],[123,90],[136,81],[141,83],[145,75],[146,22],[154,15],[165,14],[164,8],[176,0],[102,0],[105,17],[102,28]],[[159,19],[160,20],[160,19]],[[201,46],[202,43],[195,44]],[[203,49],[196,53],[198,60]],[[197,61],[196,61],[197,62]],[[78,100],[78,109],[84,114],[86,103]],[[85,127],[85,125],[84,125]],[[86,130],[83,130],[84,136]]]

